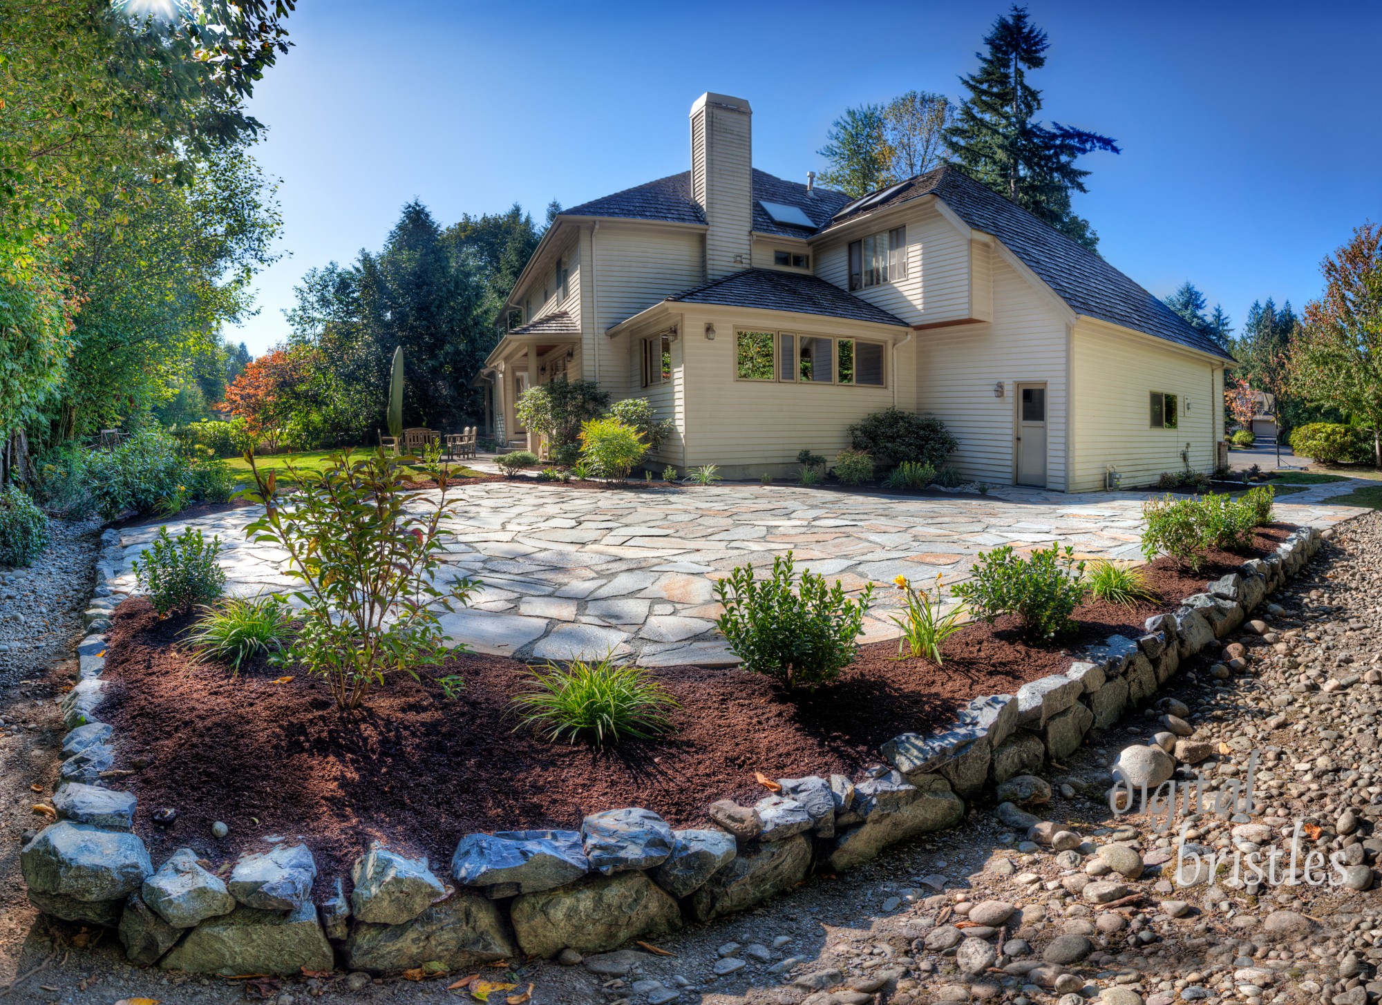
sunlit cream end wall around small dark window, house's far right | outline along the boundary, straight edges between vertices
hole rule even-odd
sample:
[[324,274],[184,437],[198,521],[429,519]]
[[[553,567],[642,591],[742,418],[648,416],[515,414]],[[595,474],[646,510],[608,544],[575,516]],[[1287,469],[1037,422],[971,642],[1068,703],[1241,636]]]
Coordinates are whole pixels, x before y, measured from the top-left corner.
[[[1125,486],[1153,485],[1164,471],[1211,472],[1220,436],[1223,369],[1147,335],[1081,320],[1072,342],[1077,491],[1101,489],[1113,464]],[[1153,391],[1179,396],[1176,429],[1151,428]],[[1189,410],[1186,404],[1189,403]]]

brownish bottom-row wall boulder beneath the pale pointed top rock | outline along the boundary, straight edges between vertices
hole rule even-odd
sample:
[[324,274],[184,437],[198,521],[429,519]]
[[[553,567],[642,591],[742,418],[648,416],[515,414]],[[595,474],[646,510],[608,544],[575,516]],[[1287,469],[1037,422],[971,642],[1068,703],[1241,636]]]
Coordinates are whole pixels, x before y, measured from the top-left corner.
[[518,955],[499,908],[471,890],[459,890],[402,925],[355,922],[343,951],[350,969],[379,973],[433,961],[464,970]]

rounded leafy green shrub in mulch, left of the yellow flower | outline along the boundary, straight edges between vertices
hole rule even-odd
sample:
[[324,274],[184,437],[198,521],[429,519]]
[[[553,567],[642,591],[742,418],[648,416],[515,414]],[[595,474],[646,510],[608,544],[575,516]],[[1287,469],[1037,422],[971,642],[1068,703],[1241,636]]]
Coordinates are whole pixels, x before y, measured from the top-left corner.
[[744,668],[771,676],[789,689],[815,690],[840,675],[857,652],[864,614],[873,598],[868,584],[857,601],[836,580],[793,570],[792,552],[773,559],[773,576],[753,578],[753,566],[738,566],[714,584],[724,614],[716,623]]

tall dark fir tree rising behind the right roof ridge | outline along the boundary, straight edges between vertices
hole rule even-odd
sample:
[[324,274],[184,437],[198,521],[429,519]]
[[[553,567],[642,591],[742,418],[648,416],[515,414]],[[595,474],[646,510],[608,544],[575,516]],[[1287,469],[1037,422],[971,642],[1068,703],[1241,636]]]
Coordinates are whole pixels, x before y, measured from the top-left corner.
[[945,139],[954,163],[976,181],[1013,200],[1090,251],[1099,235],[1075,215],[1071,193],[1086,192],[1089,171],[1075,160],[1092,150],[1118,153],[1106,135],[1038,119],[1041,91],[1027,83],[1046,65],[1050,43],[1014,6],[984,37],[978,70],[960,77],[969,97],[960,102]]

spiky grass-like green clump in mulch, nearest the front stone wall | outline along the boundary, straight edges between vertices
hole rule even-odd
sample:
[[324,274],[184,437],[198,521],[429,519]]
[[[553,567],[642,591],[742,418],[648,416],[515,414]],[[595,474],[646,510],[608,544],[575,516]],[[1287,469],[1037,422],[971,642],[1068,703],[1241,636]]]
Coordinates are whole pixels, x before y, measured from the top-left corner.
[[549,663],[533,671],[532,690],[514,697],[520,726],[549,740],[586,740],[596,747],[621,740],[651,740],[672,730],[669,714],[680,704],[643,667],[598,663]]

